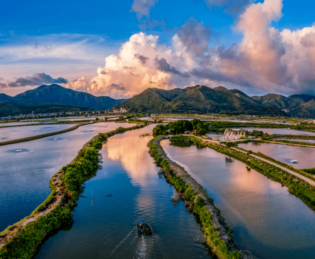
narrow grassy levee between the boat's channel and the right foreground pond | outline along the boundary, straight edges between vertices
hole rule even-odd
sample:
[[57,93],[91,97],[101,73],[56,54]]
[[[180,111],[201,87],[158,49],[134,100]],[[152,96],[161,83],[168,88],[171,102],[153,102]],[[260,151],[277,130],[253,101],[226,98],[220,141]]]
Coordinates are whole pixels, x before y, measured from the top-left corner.
[[[226,224],[213,199],[205,192],[187,172],[170,160],[163,151],[160,142],[167,136],[153,138],[148,146],[149,153],[161,167],[166,180],[175,187],[186,202],[190,203],[193,212],[201,221],[202,230],[211,251],[220,259],[253,258],[240,251],[234,242],[232,229]],[[181,137],[181,138],[187,138]]]

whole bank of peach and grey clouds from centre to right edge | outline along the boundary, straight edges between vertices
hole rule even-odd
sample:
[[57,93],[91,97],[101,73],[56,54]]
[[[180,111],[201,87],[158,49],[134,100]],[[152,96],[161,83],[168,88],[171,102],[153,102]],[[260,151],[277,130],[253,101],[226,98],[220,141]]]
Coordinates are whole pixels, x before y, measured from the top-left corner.
[[[221,7],[230,2],[211,1]],[[119,98],[148,87],[194,84],[224,84],[249,95],[257,91],[315,94],[315,25],[279,31],[271,23],[283,15],[282,0],[241,2],[246,8],[235,25],[243,33],[239,44],[209,47],[211,26],[190,18],[173,36],[171,46],[161,44],[155,35],[132,35],[118,54],[106,57],[96,77],[70,82],[69,87]]]

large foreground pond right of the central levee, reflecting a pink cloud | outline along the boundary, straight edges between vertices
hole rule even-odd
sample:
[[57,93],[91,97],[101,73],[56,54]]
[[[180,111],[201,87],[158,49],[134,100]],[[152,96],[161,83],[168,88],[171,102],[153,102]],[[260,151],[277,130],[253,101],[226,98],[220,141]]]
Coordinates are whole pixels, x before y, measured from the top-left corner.
[[314,257],[315,213],[287,187],[188,140],[164,140],[162,147],[214,198],[241,249],[260,259]]

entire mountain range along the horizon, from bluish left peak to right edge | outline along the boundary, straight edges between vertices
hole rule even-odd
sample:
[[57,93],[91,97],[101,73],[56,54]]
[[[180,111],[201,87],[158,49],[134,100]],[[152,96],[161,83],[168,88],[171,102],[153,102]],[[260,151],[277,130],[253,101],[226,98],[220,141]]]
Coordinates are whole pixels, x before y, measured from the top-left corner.
[[250,97],[237,89],[228,90],[223,86],[209,88],[205,85],[195,85],[171,90],[147,88],[130,99],[115,100],[108,96],[94,96],[74,91],[58,84],[42,85],[14,97],[0,94],[0,116],[25,114],[29,111],[55,112],[88,109],[124,109],[130,113],[139,111],[151,113],[224,112],[315,117],[315,96],[295,94],[285,97],[280,94],[266,94]]

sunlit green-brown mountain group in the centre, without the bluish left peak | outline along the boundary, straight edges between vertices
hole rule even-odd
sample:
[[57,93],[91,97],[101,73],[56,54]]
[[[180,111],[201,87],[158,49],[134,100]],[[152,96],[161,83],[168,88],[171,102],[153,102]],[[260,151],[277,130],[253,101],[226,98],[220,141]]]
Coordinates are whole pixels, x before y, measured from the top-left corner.
[[223,86],[210,88],[195,85],[184,89],[163,90],[147,88],[142,93],[114,106],[129,112],[148,111],[152,113],[196,112],[235,114],[270,114],[285,116],[278,107],[260,104],[237,89],[228,90]]

